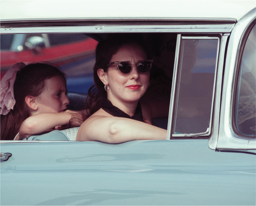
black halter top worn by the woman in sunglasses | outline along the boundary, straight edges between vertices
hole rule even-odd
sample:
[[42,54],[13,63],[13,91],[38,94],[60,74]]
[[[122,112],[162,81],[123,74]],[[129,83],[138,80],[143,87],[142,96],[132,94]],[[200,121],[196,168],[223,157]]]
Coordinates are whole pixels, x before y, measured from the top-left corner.
[[125,117],[125,118],[129,118],[129,119],[134,119],[134,120],[145,122],[143,120],[140,102],[138,102],[137,108],[135,110],[135,115],[132,116],[132,117],[130,117],[130,115],[126,114],[121,109],[115,107],[106,97],[103,98],[103,102],[102,102],[102,107],[101,108],[105,112],[113,115],[114,117]]

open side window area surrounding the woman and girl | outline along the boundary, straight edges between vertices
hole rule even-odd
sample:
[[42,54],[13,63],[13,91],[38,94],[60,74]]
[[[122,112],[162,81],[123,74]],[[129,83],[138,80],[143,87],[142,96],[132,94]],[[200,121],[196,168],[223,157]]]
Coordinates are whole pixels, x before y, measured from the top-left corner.
[[[104,34],[1,34],[0,39],[15,40],[12,44],[15,49],[0,51],[0,78],[5,71],[17,62],[26,64],[34,62],[49,62],[60,68],[66,74],[68,98],[70,103],[68,109],[85,109],[85,100],[88,89],[93,83],[93,66],[95,63],[95,48],[100,39],[107,38]],[[127,34],[122,34],[127,35]],[[135,34],[137,35],[137,34]],[[150,71],[150,87],[143,98],[167,99],[167,110],[159,116],[164,118],[154,119],[155,126],[167,129],[168,108],[172,88],[173,65],[176,48],[176,33],[164,34],[139,34],[148,43],[149,53],[154,59],[154,65]],[[18,39],[18,40],[17,40]],[[77,132],[77,131],[76,131]],[[53,137],[54,135],[54,137]],[[27,136],[26,140],[65,140],[58,139],[58,132],[45,135],[40,139],[39,135]],[[56,137],[56,138],[55,138]]]

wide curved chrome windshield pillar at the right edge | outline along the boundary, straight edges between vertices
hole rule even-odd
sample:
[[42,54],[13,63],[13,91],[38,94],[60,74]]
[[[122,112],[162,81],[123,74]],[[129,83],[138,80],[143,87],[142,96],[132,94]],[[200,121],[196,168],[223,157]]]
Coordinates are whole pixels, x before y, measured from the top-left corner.
[[232,126],[235,78],[244,37],[256,21],[256,8],[243,16],[231,32],[226,54],[225,75],[220,109],[220,127],[216,149],[256,149],[254,140],[238,135]]

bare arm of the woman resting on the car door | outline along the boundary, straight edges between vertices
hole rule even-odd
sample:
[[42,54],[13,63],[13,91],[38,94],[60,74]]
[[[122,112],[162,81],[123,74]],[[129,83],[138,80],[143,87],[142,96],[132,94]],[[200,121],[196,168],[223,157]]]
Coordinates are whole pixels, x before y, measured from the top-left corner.
[[91,116],[80,126],[76,140],[121,143],[130,140],[166,140],[167,130],[122,117]]

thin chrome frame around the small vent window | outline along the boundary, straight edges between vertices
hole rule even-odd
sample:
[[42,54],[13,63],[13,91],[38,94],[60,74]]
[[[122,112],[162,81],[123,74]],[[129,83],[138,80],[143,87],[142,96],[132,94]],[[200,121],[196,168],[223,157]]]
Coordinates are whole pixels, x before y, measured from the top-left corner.
[[[216,90],[216,76],[217,76],[217,68],[218,68],[218,61],[219,61],[219,49],[220,49],[220,38],[219,37],[209,37],[209,36],[181,36],[181,39],[217,39],[218,40],[218,45],[217,45],[217,51],[216,51],[216,64],[215,64],[215,73],[214,73],[214,82],[213,82],[213,92],[212,92],[212,100],[211,100],[211,116],[210,116],[210,123],[209,123],[209,128],[203,132],[203,133],[198,133],[198,134],[172,134],[172,130],[173,130],[173,125],[172,126],[172,129],[170,129],[170,138],[179,138],[179,137],[189,137],[189,136],[193,136],[193,137],[196,137],[196,136],[209,136],[211,134],[211,127],[212,127],[212,116],[213,116],[213,108],[214,108],[214,101],[215,101],[215,90]],[[180,43],[181,43],[181,39],[179,40],[179,46],[180,46]],[[178,44],[178,39],[177,39],[177,44]],[[176,53],[175,53],[175,67],[174,67],[174,70],[175,70],[175,74],[174,74],[174,71],[173,71],[173,77],[175,75],[175,81],[173,80],[173,84],[175,85],[172,85],[174,87],[175,90],[172,89],[172,93],[171,93],[171,101],[173,100],[173,102],[171,102],[170,104],[170,112],[169,112],[169,117],[171,115],[171,107],[172,107],[172,111],[174,111],[174,101],[175,101],[175,98],[178,98],[176,96],[176,85],[177,85],[177,72],[178,72],[178,65],[179,65],[179,50],[180,48],[178,48],[177,50],[177,47],[176,47]],[[176,55],[178,55],[178,58],[177,58],[177,62],[176,62]],[[177,65],[176,65],[177,64]],[[173,94],[175,93],[175,94]],[[173,98],[173,99],[172,99]],[[173,117],[171,118],[172,120],[170,121],[170,124],[173,124],[173,118],[176,116],[176,112],[173,112]],[[170,119],[170,118],[169,118]],[[171,127],[169,126],[169,122],[168,122],[168,128]],[[167,131],[167,134],[168,134],[169,131]]]

